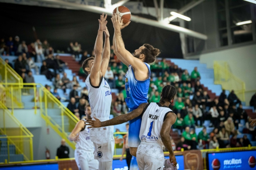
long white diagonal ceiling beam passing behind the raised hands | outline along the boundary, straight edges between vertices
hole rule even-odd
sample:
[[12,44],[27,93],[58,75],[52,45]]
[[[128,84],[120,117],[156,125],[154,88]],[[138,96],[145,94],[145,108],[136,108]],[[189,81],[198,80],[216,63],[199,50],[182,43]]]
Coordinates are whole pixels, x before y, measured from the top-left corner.
[[[81,4],[71,3],[71,2],[65,2],[62,0],[33,0],[33,1],[52,3],[52,4],[56,4],[56,5],[61,5],[63,7],[73,7],[76,10],[83,10],[83,11],[93,12],[93,13],[97,13],[97,14],[105,13],[105,14],[108,14],[109,16],[112,15],[112,8],[107,9],[107,8],[102,8],[102,7],[98,7],[98,6],[81,5]],[[178,33],[184,33],[191,37],[195,37],[195,38],[199,38],[199,39],[203,39],[203,40],[207,39],[207,35],[205,35],[205,34],[201,34],[201,33],[198,33],[198,32],[183,28],[183,27],[175,26],[173,24],[166,24],[164,22],[160,22],[160,21],[156,21],[156,20],[152,20],[152,19],[147,19],[147,18],[131,15],[131,21],[143,23],[143,24],[146,24],[149,26],[158,27],[158,28],[162,28],[162,29],[166,29],[166,30],[170,30],[170,31],[178,32]]]

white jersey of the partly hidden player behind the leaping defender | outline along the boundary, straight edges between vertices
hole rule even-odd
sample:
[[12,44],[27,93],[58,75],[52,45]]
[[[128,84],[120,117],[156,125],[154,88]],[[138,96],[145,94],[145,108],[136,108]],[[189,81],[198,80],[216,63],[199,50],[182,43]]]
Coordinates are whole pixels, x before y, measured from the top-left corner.
[[[82,119],[86,121],[85,119]],[[79,141],[76,142],[75,148],[78,150],[85,150],[89,152],[94,152],[93,142],[90,140],[89,125],[85,125],[85,129],[79,132]]]

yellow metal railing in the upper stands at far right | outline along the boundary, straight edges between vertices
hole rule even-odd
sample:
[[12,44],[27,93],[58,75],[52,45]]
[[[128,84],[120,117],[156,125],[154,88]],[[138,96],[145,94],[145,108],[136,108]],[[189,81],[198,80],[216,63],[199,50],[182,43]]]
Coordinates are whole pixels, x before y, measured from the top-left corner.
[[245,101],[245,83],[233,75],[227,62],[214,61],[214,84],[222,85],[225,90],[234,90],[241,101]]

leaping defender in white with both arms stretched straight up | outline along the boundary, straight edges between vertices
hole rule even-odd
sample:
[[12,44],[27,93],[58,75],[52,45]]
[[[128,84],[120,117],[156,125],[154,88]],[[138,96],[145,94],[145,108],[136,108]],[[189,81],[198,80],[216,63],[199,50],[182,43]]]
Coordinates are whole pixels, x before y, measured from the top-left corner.
[[[104,17],[104,14],[102,14],[99,20],[99,30],[94,46],[95,58],[87,58],[82,65],[83,70],[88,73],[85,83],[88,87],[91,117],[96,117],[101,121],[109,120],[112,101],[111,89],[104,79],[110,58],[110,41],[106,27],[106,17],[107,15]],[[102,49],[103,32],[105,33],[104,49]],[[93,128],[89,133],[95,146],[94,158],[99,160],[99,170],[112,170],[114,127]]]

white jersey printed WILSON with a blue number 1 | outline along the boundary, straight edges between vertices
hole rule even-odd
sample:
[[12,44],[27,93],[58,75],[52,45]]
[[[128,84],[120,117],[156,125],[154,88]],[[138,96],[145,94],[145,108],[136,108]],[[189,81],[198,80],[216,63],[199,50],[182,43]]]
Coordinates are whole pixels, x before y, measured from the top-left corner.
[[142,115],[140,128],[141,144],[155,145],[163,148],[160,132],[166,115],[172,110],[159,103],[149,103]]

